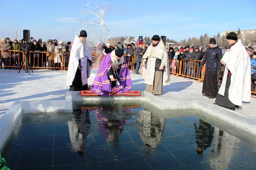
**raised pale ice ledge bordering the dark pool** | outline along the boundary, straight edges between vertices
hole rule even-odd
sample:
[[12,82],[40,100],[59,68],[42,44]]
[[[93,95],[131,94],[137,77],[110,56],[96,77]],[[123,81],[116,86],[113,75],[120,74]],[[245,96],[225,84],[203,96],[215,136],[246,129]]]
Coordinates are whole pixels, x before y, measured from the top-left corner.
[[[66,91],[65,100],[39,100],[39,101],[16,101],[0,119],[0,152],[6,142],[9,141],[12,132],[17,125],[22,114],[26,113],[54,113],[54,112],[72,112],[73,104],[99,104],[99,103],[144,103],[144,106],[152,110],[152,113],[158,112],[164,114],[166,110],[172,109],[197,109],[215,119],[225,121],[228,124],[236,126],[246,132],[256,136],[256,119],[236,111],[232,111],[215,104],[209,104],[200,99],[171,100],[159,98],[157,95],[148,92],[141,92],[141,97],[134,96],[111,96],[111,97],[83,97],[79,91]],[[114,104],[113,103],[113,104]]]

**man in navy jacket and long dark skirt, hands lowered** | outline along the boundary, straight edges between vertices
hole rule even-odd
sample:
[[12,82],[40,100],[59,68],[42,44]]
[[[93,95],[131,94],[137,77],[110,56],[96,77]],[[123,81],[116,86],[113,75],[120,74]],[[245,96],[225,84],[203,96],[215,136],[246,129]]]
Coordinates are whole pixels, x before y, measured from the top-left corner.
[[213,99],[218,93],[217,76],[221,73],[222,64],[220,59],[222,57],[222,51],[216,43],[215,38],[211,38],[209,47],[205,51],[205,58],[201,62],[200,70],[206,63],[205,77],[203,82],[202,93],[203,96],[209,96],[209,99]]

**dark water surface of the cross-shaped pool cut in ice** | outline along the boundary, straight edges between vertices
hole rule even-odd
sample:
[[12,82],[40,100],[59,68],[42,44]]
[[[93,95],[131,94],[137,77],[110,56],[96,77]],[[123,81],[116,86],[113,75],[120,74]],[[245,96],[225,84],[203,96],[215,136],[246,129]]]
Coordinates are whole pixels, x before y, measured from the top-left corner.
[[2,154],[7,166],[104,170],[255,167],[255,146],[196,116],[159,118],[143,108],[130,108],[130,114],[109,113],[104,107],[83,109],[23,115]]

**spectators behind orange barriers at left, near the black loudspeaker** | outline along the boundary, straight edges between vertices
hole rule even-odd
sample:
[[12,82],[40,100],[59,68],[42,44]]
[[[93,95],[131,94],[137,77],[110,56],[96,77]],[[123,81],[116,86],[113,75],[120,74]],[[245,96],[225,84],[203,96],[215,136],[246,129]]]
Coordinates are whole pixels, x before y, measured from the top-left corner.
[[[71,42],[63,44],[62,41],[58,42],[56,39],[49,39],[47,42],[45,42],[42,41],[41,38],[39,38],[37,41],[33,37],[30,37],[30,41],[26,42],[23,39],[17,41],[16,38],[13,38],[13,41],[11,41],[8,37],[0,38],[0,68],[2,69],[2,66],[22,66],[23,55],[21,52],[18,52],[22,51],[24,54],[26,54],[26,57],[28,57],[31,67],[46,68],[48,62],[48,67],[54,67],[56,70],[59,70],[61,69],[62,55],[65,58],[62,66],[65,63],[65,66],[67,67],[68,55],[66,53],[70,53],[71,47]],[[4,69],[7,69],[7,67],[4,67]],[[9,69],[12,69],[12,67],[9,67]]]

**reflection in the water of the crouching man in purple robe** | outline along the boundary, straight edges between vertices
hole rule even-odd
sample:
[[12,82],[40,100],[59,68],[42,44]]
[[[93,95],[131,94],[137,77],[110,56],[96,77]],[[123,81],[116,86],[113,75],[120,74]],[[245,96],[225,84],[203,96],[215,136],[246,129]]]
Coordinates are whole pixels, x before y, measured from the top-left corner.
[[125,113],[129,113],[129,108],[117,108],[116,106],[106,106],[94,109],[98,120],[99,130],[108,143],[118,146],[119,137],[123,132],[125,124]]

